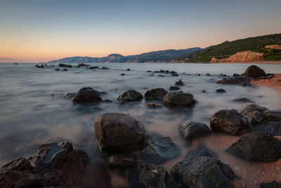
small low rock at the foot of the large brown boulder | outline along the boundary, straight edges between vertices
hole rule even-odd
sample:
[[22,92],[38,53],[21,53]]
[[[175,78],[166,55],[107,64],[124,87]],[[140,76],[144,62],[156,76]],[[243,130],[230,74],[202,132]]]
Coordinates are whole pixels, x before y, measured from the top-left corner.
[[133,157],[114,155],[107,158],[107,163],[113,168],[129,168],[135,163]]

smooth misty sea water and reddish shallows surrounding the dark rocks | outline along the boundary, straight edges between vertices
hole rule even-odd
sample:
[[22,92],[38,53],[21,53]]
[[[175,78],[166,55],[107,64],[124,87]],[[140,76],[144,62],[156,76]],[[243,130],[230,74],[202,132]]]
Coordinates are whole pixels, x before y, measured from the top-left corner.
[[[57,65],[44,69],[34,65],[0,63],[0,165],[14,158],[32,156],[40,144],[50,139],[68,140],[84,149],[91,161],[100,159],[102,156],[96,148],[94,120],[100,113],[118,112],[135,115],[144,123],[147,134],[157,133],[171,137],[181,147],[181,156],[163,164],[168,172],[174,164],[184,159],[188,150],[204,143],[240,175],[241,180],[235,183],[236,186],[255,187],[263,180],[275,180],[276,177],[281,180],[281,172],[276,172],[277,168],[274,166],[271,170],[275,170],[277,175],[270,179],[266,176],[271,172],[266,171],[267,166],[246,163],[224,151],[239,137],[214,134],[196,139],[190,145],[178,132],[179,124],[188,119],[209,126],[211,115],[216,111],[224,108],[239,109],[242,103],[233,99],[240,97],[247,97],[270,109],[280,109],[280,92],[275,89],[216,84],[217,80],[223,78],[219,74],[231,76],[233,73],[243,73],[249,64],[91,63],[91,66],[106,66],[110,69],[67,68],[68,71],[62,71],[63,68],[55,71]],[[258,66],[266,73],[281,73],[281,65]],[[131,71],[126,71],[127,68]],[[174,70],[179,76],[147,73],[147,70]],[[122,73],[125,75],[121,76]],[[195,73],[200,73],[201,76],[195,76]],[[205,75],[206,73],[211,76]],[[125,104],[117,101],[117,97],[126,90],[135,89],[144,95],[147,90],[157,87],[168,90],[180,79],[185,83],[181,86],[181,91],[190,92],[197,100],[192,108],[150,108],[146,104],[151,101],[145,99]],[[106,92],[102,94],[103,99],[110,99],[112,103],[74,104],[71,99],[63,96],[67,92],[78,92],[81,87]],[[226,92],[216,93],[216,89],[220,88]],[[202,90],[206,90],[206,93]],[[110,186],[126,186],[125,180],[114,171],[108,171],[111,175]],[[255,172],[256,176],[253,175]],[[251,177],[256,177],[256,181],[249,182]]]

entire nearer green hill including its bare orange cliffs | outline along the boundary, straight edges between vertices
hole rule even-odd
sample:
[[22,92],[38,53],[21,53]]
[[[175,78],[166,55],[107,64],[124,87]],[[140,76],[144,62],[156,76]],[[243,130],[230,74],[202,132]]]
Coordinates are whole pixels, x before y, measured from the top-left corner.
[[281,34],[223,42],[176,58],[178,62],[280,61]]

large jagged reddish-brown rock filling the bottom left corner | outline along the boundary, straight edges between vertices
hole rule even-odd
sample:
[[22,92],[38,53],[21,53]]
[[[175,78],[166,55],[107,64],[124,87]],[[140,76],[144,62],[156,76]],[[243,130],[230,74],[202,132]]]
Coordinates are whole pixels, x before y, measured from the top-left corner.
[[87,154],[69,142],[50,142],[32,158],[4,165],[0,187],[79,187],[87,163]]

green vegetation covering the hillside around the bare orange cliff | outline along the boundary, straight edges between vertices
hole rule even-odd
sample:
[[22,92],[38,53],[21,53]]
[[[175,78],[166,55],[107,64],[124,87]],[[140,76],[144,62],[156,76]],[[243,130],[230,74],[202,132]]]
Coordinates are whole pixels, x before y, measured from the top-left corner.
[[265,61],[281,60],[280,49],[265,49],[266,45],[281,45],[281,34],[264,35],[260,37],[249,37],[247,39],[238,39],[233,42],[223,42],[221,44],[210,46],[207,49],[195,51],[178,58],[178,61],[185,62],[209,62],[212,57],[222,59],[236,54],[239,51],[257,51],[264,54]]

